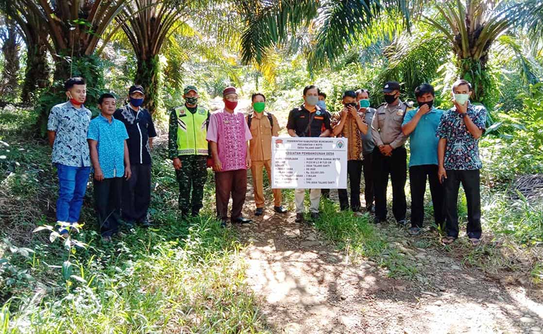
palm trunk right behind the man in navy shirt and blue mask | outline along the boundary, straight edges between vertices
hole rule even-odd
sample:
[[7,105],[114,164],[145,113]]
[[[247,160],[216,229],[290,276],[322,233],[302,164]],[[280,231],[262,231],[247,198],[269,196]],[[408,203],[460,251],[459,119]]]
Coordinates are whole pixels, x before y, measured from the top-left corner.
[[161,90],[163,85],[160,56],[154,55],[148,59],[138,58],[137,72],[134,83],[145,89],[145,106],[153,115],[163,107]]

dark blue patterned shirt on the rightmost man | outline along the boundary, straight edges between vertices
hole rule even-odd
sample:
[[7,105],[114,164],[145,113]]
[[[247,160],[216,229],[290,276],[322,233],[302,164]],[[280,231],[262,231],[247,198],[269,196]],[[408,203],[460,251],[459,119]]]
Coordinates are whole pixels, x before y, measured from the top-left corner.
[[[468,116],[477,128],[483,131],[486,129],[487,110],[484,106],[468,104]],[[447,140],[445,169],[456,171],[483,167],[479,158],[479,140],[470,133],[464,119],[456,111],[456,106],[443,113],[436,135]]]

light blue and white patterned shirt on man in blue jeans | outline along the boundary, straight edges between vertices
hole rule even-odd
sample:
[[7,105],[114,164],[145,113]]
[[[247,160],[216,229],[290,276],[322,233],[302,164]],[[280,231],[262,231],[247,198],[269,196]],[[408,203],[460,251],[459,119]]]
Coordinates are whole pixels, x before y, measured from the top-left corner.
[[81,105],[75,109],[65,102],[51,108],[47,130],[55,131],[52,162],[72,167],[91,166],[87,130],[91,122],[91,111]]

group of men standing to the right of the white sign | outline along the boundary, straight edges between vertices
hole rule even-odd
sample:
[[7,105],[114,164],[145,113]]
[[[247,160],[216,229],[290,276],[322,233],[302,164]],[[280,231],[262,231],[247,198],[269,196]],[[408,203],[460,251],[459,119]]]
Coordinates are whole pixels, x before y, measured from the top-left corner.
[[[363,168],[366,190],[372,186],[375,193],[375,223],[386,221],[390,175],[394,218],[399,225],[407,224],[407,150],[404,144],[409,138],[409,234],[421,233],[428,180],[434,210],[432,228],[439,226],[445,230],[443,243],[454,242],[459,234],[457,201],[462,183],[468,206],[467,235],[473,245],[478,245],[482,232],[479,191],[482,163],[478,139],[485,130],[487,111],[481,105],[470,103],[471,84],[457,80],[452,85],[453,107],[447,111],[433,106],[435,92],[430,84],[416,88],[416,109],[400,100],[400,85],[395,81],[386,83],[382,93],[385,103],[374,110],[369,107],[367,90],[345,91],[343,110],[332,116],[333,135],[348,138],[350,209],[357,212],[360,208]],[[326,128],[326,120],[324,123]],[[327,134],[323,133],[323,136]],[[340,189],[338,193],[340,208],[348,209],[346,190]],[[369,205],[371,197],[367,195],[366,206],[370,210]],[[318,199],[312,206],[318,207]]]

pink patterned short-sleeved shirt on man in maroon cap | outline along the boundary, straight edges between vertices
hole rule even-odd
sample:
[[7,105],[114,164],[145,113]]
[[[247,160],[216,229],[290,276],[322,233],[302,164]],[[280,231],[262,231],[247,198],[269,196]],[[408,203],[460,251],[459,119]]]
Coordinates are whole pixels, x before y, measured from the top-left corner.
[[230,114],[223,109],[211,114],[206,139],[217,143],[223,172],[247,169],[247,141],[251,138],[242,112]]

